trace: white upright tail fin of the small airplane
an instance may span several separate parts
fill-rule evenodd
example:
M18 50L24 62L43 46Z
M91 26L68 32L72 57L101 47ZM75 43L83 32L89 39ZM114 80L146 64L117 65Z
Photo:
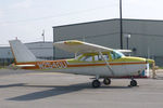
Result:
M16 63L36 62L35 55L20 40L9 41Z

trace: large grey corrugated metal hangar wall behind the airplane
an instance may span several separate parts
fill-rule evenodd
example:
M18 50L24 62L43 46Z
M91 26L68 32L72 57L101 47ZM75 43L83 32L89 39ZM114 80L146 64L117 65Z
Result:
M155 58L156 65L163 66L163 21L123 19L124 35L130 35L129 49L135 56ZM84 40L112 49L120 49L120 19L53 27L54 41ZM124 49L126 38L123 38ZM72 57L73 54L55 49L57 58Z

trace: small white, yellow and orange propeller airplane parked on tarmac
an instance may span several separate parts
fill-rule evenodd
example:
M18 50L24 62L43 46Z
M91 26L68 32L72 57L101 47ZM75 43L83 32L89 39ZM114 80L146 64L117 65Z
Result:
M110 48L87 43L78 40L67 40L53 43L55 48L75 53L75 58L45 60L38 59L20 40L9 41L15 64L13 67L39 71L53 71L93 76L92 87L99 87L103 79L105 85L111 84L111 78L129 77L130 86L136 86L135 76L146 69L153 59L125 56L122 52Z

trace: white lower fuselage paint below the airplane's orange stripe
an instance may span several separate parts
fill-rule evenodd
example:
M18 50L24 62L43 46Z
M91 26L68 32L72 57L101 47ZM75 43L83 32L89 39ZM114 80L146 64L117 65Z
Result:
M100 77L126 77L138 76L138 71L146 69L146 64L136 65L114 65L111 66L114 76L106 66L87 66L87 67L73 67L64 69L50 69L46 71L63 72L63 73L76 73L86 76L100 76Z

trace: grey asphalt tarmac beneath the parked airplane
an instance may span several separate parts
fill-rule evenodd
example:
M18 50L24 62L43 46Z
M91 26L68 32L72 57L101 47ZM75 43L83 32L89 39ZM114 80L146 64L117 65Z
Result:
M163 73L158 79L113 79L91 87L91 77L0 69L0 108L163 108Z

